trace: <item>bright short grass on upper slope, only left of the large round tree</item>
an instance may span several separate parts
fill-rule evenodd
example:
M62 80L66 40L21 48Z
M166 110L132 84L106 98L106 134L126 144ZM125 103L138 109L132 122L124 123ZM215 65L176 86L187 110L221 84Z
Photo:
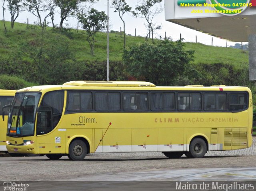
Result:
M10 22L6 22L6 26L10 26ZM48 32L52 28L47 29ZM6 35L4 34L4 25L0 21L0 54L2 56L8 56L15 51L15 49L24 44L25 42L30 42L31 44L35 39L40 39L41 33L37 26L29 25L27 28L26 24L15 23L14 29L7 28ZM74 56L77 61L106 61L106 49L107 49L107 34L104 32L96 33L95 42L95 55L90 54L90 46L86 41L86 36L81 35L76 30L65 30L62 34L58 33L58 30L47 35L50 41L54 41L56 38L65 41L69 44L69 48L74 51ZM126 35L127 46L143 42L144 37L132 37ZM123 37L120 37L120 33L110 33L109 35L109 59L112 61L122 60L123 51Z

